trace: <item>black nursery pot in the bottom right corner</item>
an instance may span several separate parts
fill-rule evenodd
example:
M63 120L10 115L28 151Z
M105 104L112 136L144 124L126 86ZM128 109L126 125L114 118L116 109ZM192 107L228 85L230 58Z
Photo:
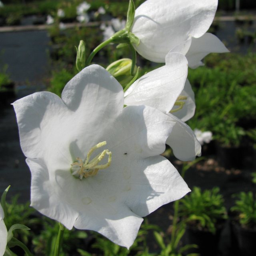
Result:
M244 229L237 222L230 222L231 248L234 256L256 255L256 230Z

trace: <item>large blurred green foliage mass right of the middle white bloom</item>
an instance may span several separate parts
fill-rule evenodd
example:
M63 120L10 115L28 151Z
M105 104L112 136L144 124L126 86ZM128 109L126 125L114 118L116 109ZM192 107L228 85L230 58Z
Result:
M222 146L240 146L256 119L256 54L210 54L205 63L188 72L196 101L188 125L210 130Z

